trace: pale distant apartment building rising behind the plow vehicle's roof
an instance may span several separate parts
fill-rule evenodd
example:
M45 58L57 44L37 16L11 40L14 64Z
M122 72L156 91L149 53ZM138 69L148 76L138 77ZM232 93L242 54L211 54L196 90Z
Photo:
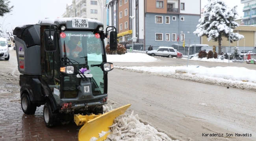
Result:
M102 22L100 4L101 0L72 0L72 3L67 4L66 11L62 14L62 17L81 17Z

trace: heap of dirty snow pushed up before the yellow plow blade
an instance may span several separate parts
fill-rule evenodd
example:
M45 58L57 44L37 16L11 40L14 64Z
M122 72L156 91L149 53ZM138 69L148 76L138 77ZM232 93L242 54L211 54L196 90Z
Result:
M139 116L133 114L132 111L129 116L122 114L117 117L105 141L173 141L166 134L141 123Z

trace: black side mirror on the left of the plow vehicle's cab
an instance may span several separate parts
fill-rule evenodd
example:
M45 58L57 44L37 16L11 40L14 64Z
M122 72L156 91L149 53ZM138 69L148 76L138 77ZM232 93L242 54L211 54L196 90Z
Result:
M45 30L45 51L56 51L57 40L55 30Z

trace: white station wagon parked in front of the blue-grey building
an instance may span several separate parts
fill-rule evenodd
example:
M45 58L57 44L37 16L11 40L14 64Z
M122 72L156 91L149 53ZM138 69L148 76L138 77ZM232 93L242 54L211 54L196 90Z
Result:
M158 47L156 50L146 51L150 56L177 57L178 52L173 47Z

